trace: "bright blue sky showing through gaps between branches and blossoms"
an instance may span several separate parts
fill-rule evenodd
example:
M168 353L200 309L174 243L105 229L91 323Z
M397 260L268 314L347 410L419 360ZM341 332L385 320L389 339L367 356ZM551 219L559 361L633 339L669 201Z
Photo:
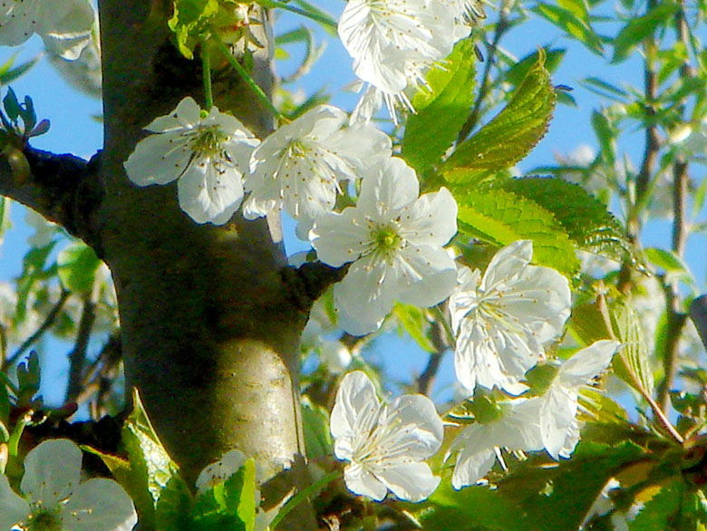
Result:
M335 7L339 10L344 6L343 2L334 3L322 0L317 4ZM496 14L491 10L488 11L489 19L493 20ZM338 15L338 13L332 14ZM284 33L301 24L315 27L314 23L305 19L284 14L276 24L276 34ZM297 82L294 88L311 94L321 87L327 87L328 91L333 93L332 102L350 111L357 100L357 95L343 92L342 89L355 79L351 70L351 61L338 40L329 38L321 30L317 30L316 35L319 43L326 40L324 55L320 62L315 64L312 72ZM637 55L620 65L608 65L605 60L586 52L579 44L567 40L558 30L542 21L536 20L532 24L525 24L513 30L503 45L509 53L513 53L518 58L534 52L538 46L566 47L565 61L555 73L554 82L574 87L575 90L572 94L577 102L576 108L558 106L547 137L542 140L528 159L519 165L521 170L551 164L556 153L567 153L575 150L581 144L588 144L596 148L593 133L589 128L589 116L592 110L601 106L601 102L594 94L586 91L580 85L580 79L586 76L600 75L607 81L615 82L618 85L625 82L630 82L635 86L642 84L642 64ZM298 51L296 48L292 48L291 51L294 57L301 53L301 50ZM0 61L9 58L13 53L18 53L18 49L0 49ZM19 49L16 61L27 60L38 53L41 53L41 41L34 37ZM292 63L280 63L277 68L279 72L287 73L291 71L293 66ZM12 86L20 97L23 97L24 94L31 95L39 118L48 118L52 122L49 133L32 142L34 147L57 153L72 152L82 157L90 157L92 153L100 149L102 124L96 120L96 117L101 114L100 101L75 92L44 59L40 60L34 69L23 78L13 82ZM633 134L626 135L621 140L622 148L634 159L635 165L640 160L641 140L640 131L634 131ZM696 179L704 179L704 168L697 169L693 175ZM24 226L23 218L23 209L14 207L12 214L14 228L5 235L5 243L0 248L0 280L11 279L20 272L22 257L27 249L25 238L29 234L27 227ZM702 212L702 220L704 219L705 215ZM653 224L646 237L647 245L669 246L669 223ZM305 246L303 243L295 241L295 238L291 236L288 237L286 243L290 253ZM704 238L694 237L690 241L687 253L688 262L693 267L702 289L705 284L706 246L707 242ZM64 358L70 345L52 342L47 346L50 355L46 358L44 394L50 401L60 401L63 389L53 382L60 381L65 375ZM376 341L375 347L375 356L385 362L396 379L402 381L409 381L413 373L421 372L427 361L426 354L420 352L412 342L394 336ZM393 367L395 369L392 369ZM453 381L453 371L450 356L447 356L442 366L438 391L449 386L451 381Z

